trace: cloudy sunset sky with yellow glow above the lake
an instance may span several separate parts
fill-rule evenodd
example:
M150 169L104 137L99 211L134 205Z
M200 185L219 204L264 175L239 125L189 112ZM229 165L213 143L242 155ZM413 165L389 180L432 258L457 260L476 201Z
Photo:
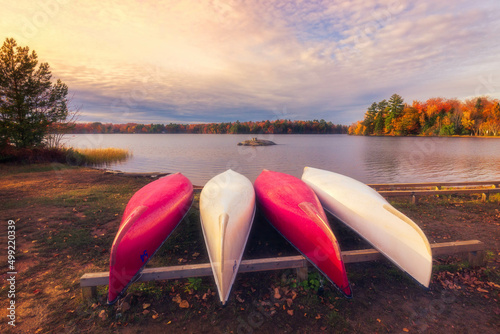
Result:
M498 0L0 0L79 121L325 119L394 93L500 98Z

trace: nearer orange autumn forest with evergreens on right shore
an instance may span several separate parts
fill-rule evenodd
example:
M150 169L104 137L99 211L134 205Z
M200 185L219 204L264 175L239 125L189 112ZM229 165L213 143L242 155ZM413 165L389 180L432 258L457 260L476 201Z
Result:
M373 102L352 135L499 136L500 103L490 97L460 101L441 97L404 103L398 94Z

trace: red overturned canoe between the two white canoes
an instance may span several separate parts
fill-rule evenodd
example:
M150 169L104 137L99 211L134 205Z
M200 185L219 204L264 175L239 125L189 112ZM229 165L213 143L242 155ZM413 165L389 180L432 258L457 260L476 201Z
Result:
M302 180L264 170L255 195L267 220L346 297L351 288L339 244L314 192Z

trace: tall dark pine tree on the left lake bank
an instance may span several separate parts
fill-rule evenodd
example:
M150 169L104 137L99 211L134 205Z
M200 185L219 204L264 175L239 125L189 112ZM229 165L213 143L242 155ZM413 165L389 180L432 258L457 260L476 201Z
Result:
M0 141L16 147L42 144L54 123L68 116L68 86L51 82L48 63L7 38L0 48Z

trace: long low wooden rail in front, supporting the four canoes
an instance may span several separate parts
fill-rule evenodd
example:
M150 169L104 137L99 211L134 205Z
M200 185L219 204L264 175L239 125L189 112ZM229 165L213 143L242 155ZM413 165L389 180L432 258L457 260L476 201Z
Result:
M484 262L484 243L478 240L445 242L431 244L433 257L441 255L468 254L471 265L480 266ZM344 263L358 263L384 259L384 256L375 249L362 249L342 252ZM302 255L274 257L264 259L253 259L241 261L239 273L297 269L299 279L307 278L307 267L309 262ZM181 279L188 277L211 276L210 263L192 264L185 266L171 266L159 268L146 268L138 282ZM109 284L109 272L87 273L80 278L80 286L84 299L93 298L97 295L96 287Z

